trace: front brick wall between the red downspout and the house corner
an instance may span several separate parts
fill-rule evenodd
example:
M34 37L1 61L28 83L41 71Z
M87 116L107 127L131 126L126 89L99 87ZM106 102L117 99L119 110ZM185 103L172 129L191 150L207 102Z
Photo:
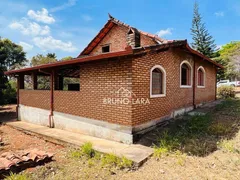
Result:
M131 105L104 104L124 87L131 90L131 59L80 65L80 91L55 91L54 110L116 124L131 124Z

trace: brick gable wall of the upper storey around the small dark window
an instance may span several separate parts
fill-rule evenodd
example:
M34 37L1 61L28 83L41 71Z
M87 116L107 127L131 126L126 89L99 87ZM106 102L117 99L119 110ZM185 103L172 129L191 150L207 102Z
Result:
M92 50L90 55L97 55L102 53L102 46L110 44L110 51L124 51L127 45L128 28L124 26L115 25L104 39ZM154 45L156 42L145 35L140 35L141 46Z

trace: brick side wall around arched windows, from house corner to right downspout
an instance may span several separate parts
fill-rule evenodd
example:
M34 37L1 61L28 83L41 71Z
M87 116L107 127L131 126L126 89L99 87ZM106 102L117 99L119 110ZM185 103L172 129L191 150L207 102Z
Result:
M138 98L149 98L149 105L133 105L133 125L139 125L169 115L172 110L191 106L192 88L180 88L180 64L192 56L185 53L164 51L152 52L133 60L133 92ZM166 97L150 98L150 70L161 65L166 71Z

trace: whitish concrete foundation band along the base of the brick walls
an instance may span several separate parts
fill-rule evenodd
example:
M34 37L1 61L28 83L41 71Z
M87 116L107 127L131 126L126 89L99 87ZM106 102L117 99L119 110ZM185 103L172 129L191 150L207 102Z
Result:
M54 127L57 129L78 132L125 144L132 144L134 134L137 134L138 132L147 132L159 123L187 113L192 109L193 107L181 108L173 111L169 116L155 119L135 127L112 124L105 121L74 116L56 111L53 112L52 118ZM49 110L19 105L18 112L19 120L42 126L49 126Z

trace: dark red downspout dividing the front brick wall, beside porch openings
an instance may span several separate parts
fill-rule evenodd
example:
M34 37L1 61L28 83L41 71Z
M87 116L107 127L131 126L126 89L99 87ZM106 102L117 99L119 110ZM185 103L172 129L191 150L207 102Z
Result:
M39 72L42 72L42 73L45 73L45 74L49 74L50 75L50 114L48 116L48 123L49 123L49 127L50 128L53 128L54 127L54 123L53 123L53 88L54 88L54 85L53 85L53 81L54 81L54 70L52 70L51 73L49 72L46 72L46 71L43 71L41 69L39 69Z

